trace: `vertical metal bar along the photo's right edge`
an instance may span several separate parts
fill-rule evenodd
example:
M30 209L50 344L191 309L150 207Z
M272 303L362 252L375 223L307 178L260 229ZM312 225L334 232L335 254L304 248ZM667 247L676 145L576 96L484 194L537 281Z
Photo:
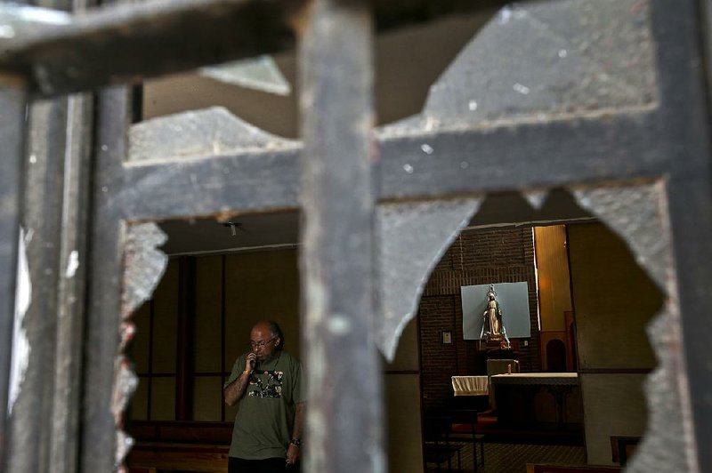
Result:
M671 5L654 0L653 28L658 44L659 117L668 133L672 161L667 170L668 206L675 249L682 312L686 379L683 398L690 411L679 413L694 431L685 432L691 469L712 471L712 364L709 355L709 315L712 313L712 152L710 108L702 52L704 17L700 5L688 0ZM688 405L684 405L688 407ZM696 444L696 445L695 445ZM697 448L694 448L694 447ZM696 458L695 457L696 453ZM695 465L696 463L696 465Z

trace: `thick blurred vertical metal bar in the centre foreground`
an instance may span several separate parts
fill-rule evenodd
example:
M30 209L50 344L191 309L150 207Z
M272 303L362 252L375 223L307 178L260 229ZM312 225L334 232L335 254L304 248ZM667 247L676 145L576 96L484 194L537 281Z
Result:
M384 471L374 333L372 31L365 2L318 0L301 44L306 470Z

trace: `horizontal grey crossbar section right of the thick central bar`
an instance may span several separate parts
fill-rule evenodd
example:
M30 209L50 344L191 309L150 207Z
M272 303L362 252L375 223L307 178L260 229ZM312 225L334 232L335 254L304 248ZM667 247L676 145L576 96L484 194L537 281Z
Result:
M659 176L671 156L657 113L382 138L376 193L423 198Z

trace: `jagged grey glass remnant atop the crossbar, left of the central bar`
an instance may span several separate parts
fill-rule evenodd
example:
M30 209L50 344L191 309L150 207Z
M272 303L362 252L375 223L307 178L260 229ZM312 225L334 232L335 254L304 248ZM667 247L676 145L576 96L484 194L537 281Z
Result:
M129 132L129 162L226 152L295 148L286 140L240 120L227 108L160 116L134 124Z

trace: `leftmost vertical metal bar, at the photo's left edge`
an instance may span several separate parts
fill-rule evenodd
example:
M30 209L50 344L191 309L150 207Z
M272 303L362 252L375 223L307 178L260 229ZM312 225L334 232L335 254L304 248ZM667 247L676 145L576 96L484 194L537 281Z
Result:
M0 84L0 471L8 457L8 395L25 141L26 94L21 84Z

